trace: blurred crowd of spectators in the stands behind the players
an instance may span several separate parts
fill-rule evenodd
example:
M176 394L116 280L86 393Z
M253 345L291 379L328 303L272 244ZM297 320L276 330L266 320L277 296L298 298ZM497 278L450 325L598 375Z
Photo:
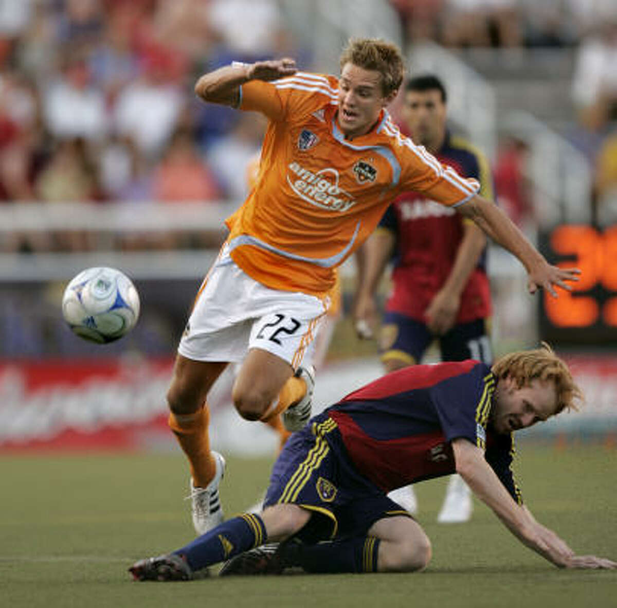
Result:
M596 197L617 189L615 0L391 2L408 44L576 49L573 120L601 135ZM310 65L282 14L277 0L2 0L0 201L238 204L263 120L200 104L193 85L233 59ZM517 146L496 167L506 182Z

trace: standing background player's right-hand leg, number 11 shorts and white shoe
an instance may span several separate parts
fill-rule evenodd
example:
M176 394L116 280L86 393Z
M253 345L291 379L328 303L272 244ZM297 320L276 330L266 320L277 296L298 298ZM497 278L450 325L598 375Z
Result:
M490 322L478 319L455 325L442 336L441 356L444 361L477 359L492 364ZM460 475L451 475L445 491L444 503L437 515L439 523L463 523L471 518L473 499L469 486Z

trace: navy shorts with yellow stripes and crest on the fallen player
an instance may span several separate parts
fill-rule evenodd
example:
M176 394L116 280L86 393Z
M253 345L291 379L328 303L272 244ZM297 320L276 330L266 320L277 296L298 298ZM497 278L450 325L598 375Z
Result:
M314 512L297 535L306 543L363 536L384 517L411 517L358 473L327 412L294 433L276 460L263 506L281 503Z

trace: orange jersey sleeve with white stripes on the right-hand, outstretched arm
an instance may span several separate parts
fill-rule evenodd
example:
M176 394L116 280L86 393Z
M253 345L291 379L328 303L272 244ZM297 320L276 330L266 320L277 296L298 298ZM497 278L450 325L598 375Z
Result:
M448 207L457 207L478 193L480 185L474 178L464 178L442 165L422 146L405 138L402 143L400 190L414 190Z

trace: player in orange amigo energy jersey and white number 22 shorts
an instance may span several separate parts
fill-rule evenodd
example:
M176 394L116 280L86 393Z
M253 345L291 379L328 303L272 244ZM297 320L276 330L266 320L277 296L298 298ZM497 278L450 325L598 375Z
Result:
M205 74L207 102L268 118L257 185L228 220L230 235L197 294L167 394L170 427L189 460L193 523L223 518L224 461L210 451L210 387L242 361L234 406L248 420L283 413L290 430L310 417L313 338L334 269L375 229L401 191L415 189L473 217L529 272L529 289L566 288L576 271L547 263L494 204L400 135L385 107L402 83L400 50L351 41L341 77L296 73L291 59L236 64ZM287 78L284 78L287 77ZM290 408L291 406L291 408ZM290 408L290 409L288 409Z

